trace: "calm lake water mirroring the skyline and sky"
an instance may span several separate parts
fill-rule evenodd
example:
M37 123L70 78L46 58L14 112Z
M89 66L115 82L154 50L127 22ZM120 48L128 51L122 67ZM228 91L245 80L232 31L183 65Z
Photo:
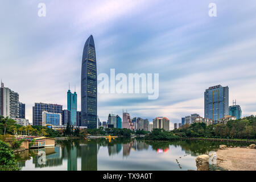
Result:
M176 140L144 142L136 139L64 140L55 147L27 150L18 155L22 170L196 170L196 156L216 151L220 144L245 143ZM181 168L179 167L178 160ZM217 169L217 167L212 167Z

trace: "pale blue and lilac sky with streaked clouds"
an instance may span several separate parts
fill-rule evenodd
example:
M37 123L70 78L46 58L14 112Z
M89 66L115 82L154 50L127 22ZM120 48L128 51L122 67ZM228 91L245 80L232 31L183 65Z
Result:
M39 3L46 16L39 17ZM209 3L217 16L210 17ZM19 93L32 122L35 102L61 104L77 92L81 109L81 59L93 35L97 74L159 73L159 98L99 94L98 116L204 117L204 91L229 86L242 116L256 115L256 2L254 0L24 0L0 1L0 78Z

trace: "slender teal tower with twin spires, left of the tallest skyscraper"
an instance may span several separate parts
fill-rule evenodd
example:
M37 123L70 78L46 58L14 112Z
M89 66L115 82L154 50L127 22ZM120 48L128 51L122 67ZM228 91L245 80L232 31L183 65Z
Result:
M67 92L68 96L68 110L70 111L70 125L76 125L76 111L77 111L77 94L72 93L69 89Z

